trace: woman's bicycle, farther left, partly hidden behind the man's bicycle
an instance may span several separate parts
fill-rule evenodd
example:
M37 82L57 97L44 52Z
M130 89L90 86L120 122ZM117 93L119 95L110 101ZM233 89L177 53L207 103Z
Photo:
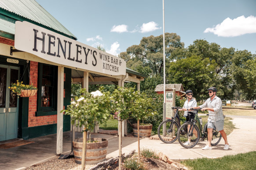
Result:
M177 132L180 127L179 109L181 107L172 107L172 110L176 109L176 113L172 119L161 122L158 126L157 134L161 141L165 143L173 143L177 140ZM176 120L177 119L177 120ZM163 128L165 130L163 130Z

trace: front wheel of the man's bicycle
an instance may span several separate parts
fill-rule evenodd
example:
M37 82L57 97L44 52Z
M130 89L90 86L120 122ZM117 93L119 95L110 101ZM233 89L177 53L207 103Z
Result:
M184 131L184 127L187 126L187 131ZM192 131L192 128L194 130ZM183 131L182 131L183 130ZM190 138L190 142L189 142ZM184 148L193 148L197 145L197 142L200 139L200 133L197 125L194 125L192 122L187 122L179 128L178 131L178 140L179 144L182 145Z

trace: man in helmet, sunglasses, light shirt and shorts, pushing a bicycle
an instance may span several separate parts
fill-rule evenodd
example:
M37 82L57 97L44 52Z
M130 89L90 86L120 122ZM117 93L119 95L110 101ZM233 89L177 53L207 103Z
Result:
M225 146L224 150L229 149L229 144L227 142L227 134L225 133L224 127L224 117L222 112L222 102L219 97L216 96L217 89L215 87L210 87L208 90L208 94L210 96L209 99L205 101L201 106L193 107L194 109L201 109L203 111L208 110L209 117L207 122L207 131L208 131L208 145L203 147L203 150L211 150L211 141L212 141L212 129L215 128L222 135Z

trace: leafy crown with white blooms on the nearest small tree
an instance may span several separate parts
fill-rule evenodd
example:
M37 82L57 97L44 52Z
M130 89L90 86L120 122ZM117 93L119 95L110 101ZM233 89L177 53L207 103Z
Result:
M110 92L86 92L86 89L80 91L83 95L75 97L75 101L67 106L65 115L70 115L71 123L75 120L79 121L79 127L84 125L85 131L92 130L94 123L99 124L106 122L110 117L110 110L112 110L113 103L110 101Z

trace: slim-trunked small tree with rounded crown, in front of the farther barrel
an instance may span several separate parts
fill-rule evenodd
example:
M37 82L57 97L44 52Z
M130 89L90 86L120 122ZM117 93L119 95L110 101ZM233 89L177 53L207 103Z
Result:
M154 109L151 105L152 98L146 94L135 93L134 100L132 101L133 106L130 108L132 112L131 116L137 120L138 128L138 161L140 162L140 147L139 147L139 120L144 120L146 117L154 115ZM142 124L143 125L143 124Z

